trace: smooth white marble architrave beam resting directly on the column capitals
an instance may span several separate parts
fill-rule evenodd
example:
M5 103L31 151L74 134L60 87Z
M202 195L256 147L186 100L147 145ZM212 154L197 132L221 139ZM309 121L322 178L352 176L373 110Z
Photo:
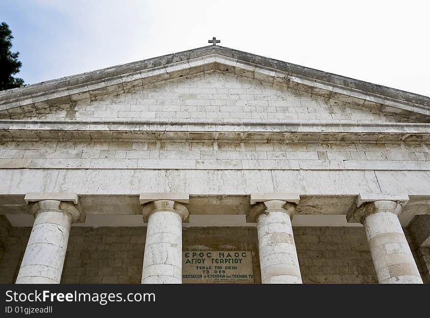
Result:
M187 192L218 195L297 192L301 195L357 195L360 192L402 192L430 195L429 176L423 171L0 169L0 180L5 181L0 183L0 193Z

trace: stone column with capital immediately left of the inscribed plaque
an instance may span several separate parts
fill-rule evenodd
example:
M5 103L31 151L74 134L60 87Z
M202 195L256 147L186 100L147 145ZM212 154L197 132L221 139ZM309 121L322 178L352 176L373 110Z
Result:
M151 197L166 200L148 202ZM182 283L182 222L188 209L178 201L188 203L188 195L141 195L143 218L148 222L142 284Z

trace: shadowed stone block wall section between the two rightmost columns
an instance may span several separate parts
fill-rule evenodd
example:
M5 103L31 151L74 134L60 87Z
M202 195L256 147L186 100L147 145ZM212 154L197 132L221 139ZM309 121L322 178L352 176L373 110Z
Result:
M362 227L293 227L306 283L377 283Z

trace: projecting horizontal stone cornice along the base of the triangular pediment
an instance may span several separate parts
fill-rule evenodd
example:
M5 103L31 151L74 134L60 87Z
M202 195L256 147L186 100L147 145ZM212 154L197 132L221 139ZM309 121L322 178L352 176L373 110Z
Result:
M220 140L301 142L428 142L427 123L214 123L169 121L0 120L0 139L38 140Z

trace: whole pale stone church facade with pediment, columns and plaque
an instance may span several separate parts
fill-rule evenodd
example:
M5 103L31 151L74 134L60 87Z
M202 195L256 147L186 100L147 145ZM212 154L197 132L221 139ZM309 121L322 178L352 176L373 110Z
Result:
M1 91L0 181L1 283L430 283L430 98L215 43Z

